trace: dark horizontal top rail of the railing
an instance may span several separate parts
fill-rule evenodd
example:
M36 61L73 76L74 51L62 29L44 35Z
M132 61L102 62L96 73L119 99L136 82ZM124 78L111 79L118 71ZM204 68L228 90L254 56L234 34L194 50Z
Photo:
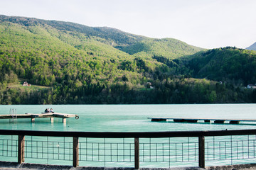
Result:
M61 132L36 130L0 130L0 135L28 135L53 137L97 137L97 138L157 138L157 137L200 137L226 135L256 135L252 130L212 130L212 131L170 131L170 132Z

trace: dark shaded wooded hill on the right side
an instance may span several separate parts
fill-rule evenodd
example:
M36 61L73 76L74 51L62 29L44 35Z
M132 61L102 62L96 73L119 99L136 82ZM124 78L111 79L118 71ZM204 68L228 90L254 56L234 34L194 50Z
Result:
M187 58L186 67L196 78L229 81L246 86L256 83L256 52L224 47Z

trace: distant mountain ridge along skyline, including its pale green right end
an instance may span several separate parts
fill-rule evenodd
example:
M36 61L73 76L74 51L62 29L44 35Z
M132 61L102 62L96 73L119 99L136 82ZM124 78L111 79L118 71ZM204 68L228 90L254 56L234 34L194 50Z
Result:
M101 38L97 40L107 45L137 56L161 55L167 58L182 57L184 55L193 55L203 48L186 44L174 38L146 38L142 35L134 35L125 33L116 28L107 27L89 27L78 23L64 21L46 21L37 18L26 18L19 16L3 16L0 15L1 22L18 23L21 26L51 26L60 31L69 31L81 33L87 38Z

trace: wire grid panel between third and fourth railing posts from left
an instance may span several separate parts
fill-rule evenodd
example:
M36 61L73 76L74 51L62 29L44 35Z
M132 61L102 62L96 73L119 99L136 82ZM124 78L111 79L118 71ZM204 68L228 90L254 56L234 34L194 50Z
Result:
M198 162L198 137L149 138L139 147L140 162Z

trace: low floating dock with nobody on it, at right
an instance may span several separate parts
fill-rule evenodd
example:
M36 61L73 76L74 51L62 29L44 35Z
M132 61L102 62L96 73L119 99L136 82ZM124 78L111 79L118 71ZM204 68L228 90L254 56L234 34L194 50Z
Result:
M148 118L152 122L161 122L167 120L173 120L175 123L198 123L199 120L203 120L203 123L225 123L239 124L242 122L256 122L256 119L215 119L215 118Z

